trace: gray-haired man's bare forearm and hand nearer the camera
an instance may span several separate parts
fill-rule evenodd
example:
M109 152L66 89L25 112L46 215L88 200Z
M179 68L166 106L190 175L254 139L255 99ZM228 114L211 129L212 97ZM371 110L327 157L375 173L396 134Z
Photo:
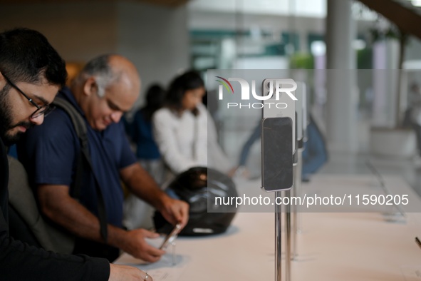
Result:
M43 213L53 222L78 237L104 242L100 235L99 220L83 205L71 198L66 185L38 185L38 199ZM108 225L108 245L118 247L130 255L147 262L156 262L165 251L147 244L145 238L157 237L157 233L137 229L125 231Z

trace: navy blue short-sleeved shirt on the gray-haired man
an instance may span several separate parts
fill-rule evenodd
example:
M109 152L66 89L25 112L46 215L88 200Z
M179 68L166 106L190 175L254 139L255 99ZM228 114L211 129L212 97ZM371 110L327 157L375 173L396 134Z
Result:
M64 88L58 96L66 98L83 115L70 89ZM121 227L123 222L123 189L120 185L121 168L136 162L123 122L112 123L104 131L95 131L86 121L93 173L103 193L108 223ZM41 126L31 128L19 143L19 160L24 163L31 183L71 186L76 173L80 143L68 114L56 108ZM83 175L80 203L97 215L97 194L92 171Z

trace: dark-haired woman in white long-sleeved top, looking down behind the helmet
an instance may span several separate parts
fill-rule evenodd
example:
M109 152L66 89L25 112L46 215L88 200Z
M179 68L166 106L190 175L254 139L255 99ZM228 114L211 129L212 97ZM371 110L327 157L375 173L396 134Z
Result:
M212 118L202 103L204 93L199 74L184 73L172 81L165 106L152 117L155 141L173 174L197 166L232 173L232 165L217 143Z

